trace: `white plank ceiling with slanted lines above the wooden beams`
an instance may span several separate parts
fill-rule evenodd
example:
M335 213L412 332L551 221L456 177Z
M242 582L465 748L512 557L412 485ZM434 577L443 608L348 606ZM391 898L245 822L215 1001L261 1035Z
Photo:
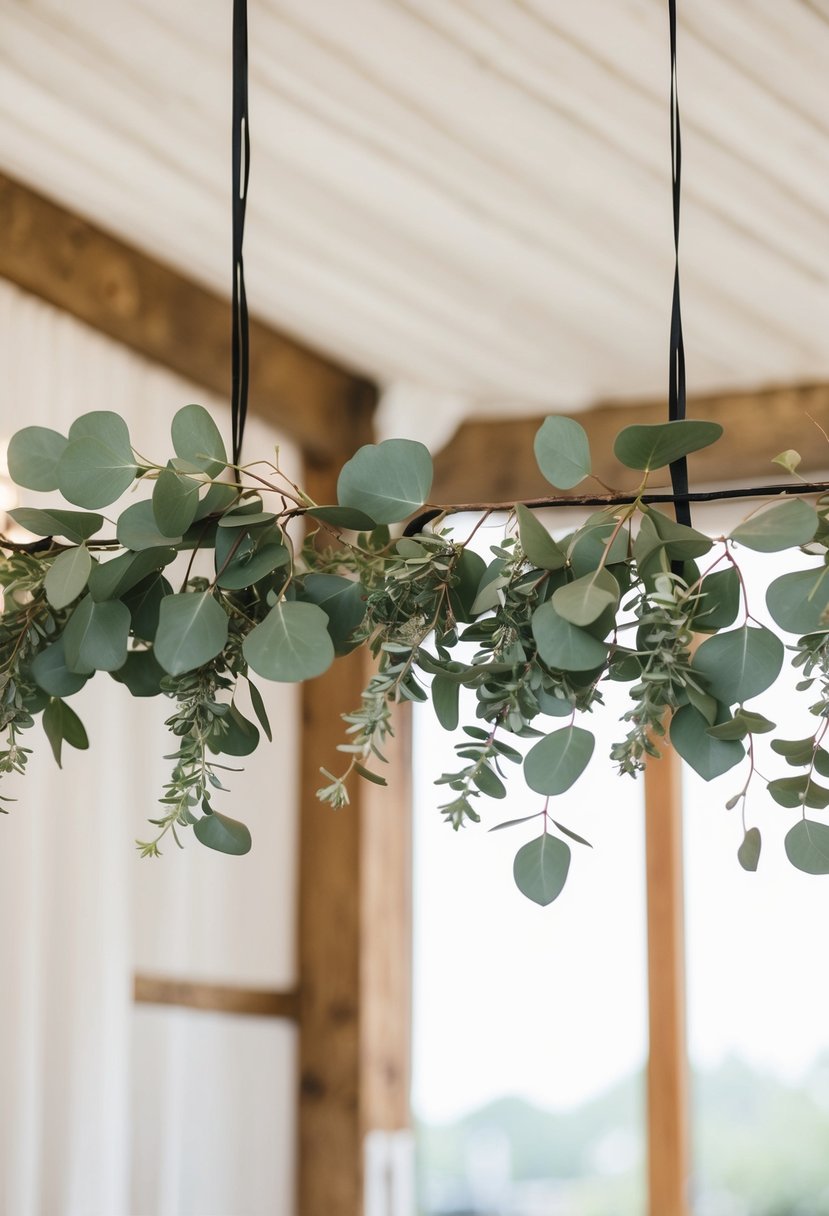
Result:
M679 0L692 392L829 377L829 0ZM252 0L252 308L455 413L660 395L664 0ZM0 164L225 291L230 0L2 0ZM418 395L419 394L419 395Z

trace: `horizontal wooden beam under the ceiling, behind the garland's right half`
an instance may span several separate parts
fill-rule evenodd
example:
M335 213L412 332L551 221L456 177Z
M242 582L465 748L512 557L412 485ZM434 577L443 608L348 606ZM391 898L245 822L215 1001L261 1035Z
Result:
M665 422L665 404L616 402L573 416L590 437L596 477L614 490L635 489L639 474L614 458L613 441L631 423ZM802 472L829 467L829 443L816 426L817 422L829 430L829 384L699 396L688 402L688 417L720 422L724 428L718 443L688 457L692 485L754 482L765 477L779 480L782 469L771 460L786 447L795 447L802 455ZM462 423L435 460L433 501L515 502L552 494L532 455L532 440L541 422L541 417L532 417ZM654 479L654 485L666 483L666 475ZM596 483L585 482L573 492L585 492L588 485Z

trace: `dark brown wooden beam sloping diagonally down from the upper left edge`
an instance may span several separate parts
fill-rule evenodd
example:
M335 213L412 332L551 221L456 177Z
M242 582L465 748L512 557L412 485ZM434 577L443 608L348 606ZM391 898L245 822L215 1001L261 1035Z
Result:
M230 396L226 299L2 174L0 231L0 277ZM325 457L350 455L373 393L365 379L252 320L249 400L304 451Z

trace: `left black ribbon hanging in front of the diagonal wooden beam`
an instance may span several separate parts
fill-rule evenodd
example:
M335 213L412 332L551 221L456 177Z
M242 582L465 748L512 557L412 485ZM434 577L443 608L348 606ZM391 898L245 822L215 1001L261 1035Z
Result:
M233 463L242 454L244 420L248 413L250 340L248 299L244 291L244 213L250 173L250 125L248 122L248 5L233 0L233 136L232 136L233 292L231 339L231 428Z

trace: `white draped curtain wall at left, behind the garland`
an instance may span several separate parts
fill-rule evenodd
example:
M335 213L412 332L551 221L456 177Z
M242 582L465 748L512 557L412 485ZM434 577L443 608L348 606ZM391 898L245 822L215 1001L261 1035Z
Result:
M123 413L167 457L169 420L207 394L0 282L0 438ZM276 437L258 420L250 454ZM282 444L286 465L297 454ZM44 496L29 495L30 505ZM297 700L269 689L278 742L229 775L247 857L188 839L140 861L134 839L169 765L169 702L107 676L74 698L86 753L53 765L40 731L0 816L0 1212L271 1216L293 1211L295 1042L283 1023L134 1008L135 969L292 985Z

